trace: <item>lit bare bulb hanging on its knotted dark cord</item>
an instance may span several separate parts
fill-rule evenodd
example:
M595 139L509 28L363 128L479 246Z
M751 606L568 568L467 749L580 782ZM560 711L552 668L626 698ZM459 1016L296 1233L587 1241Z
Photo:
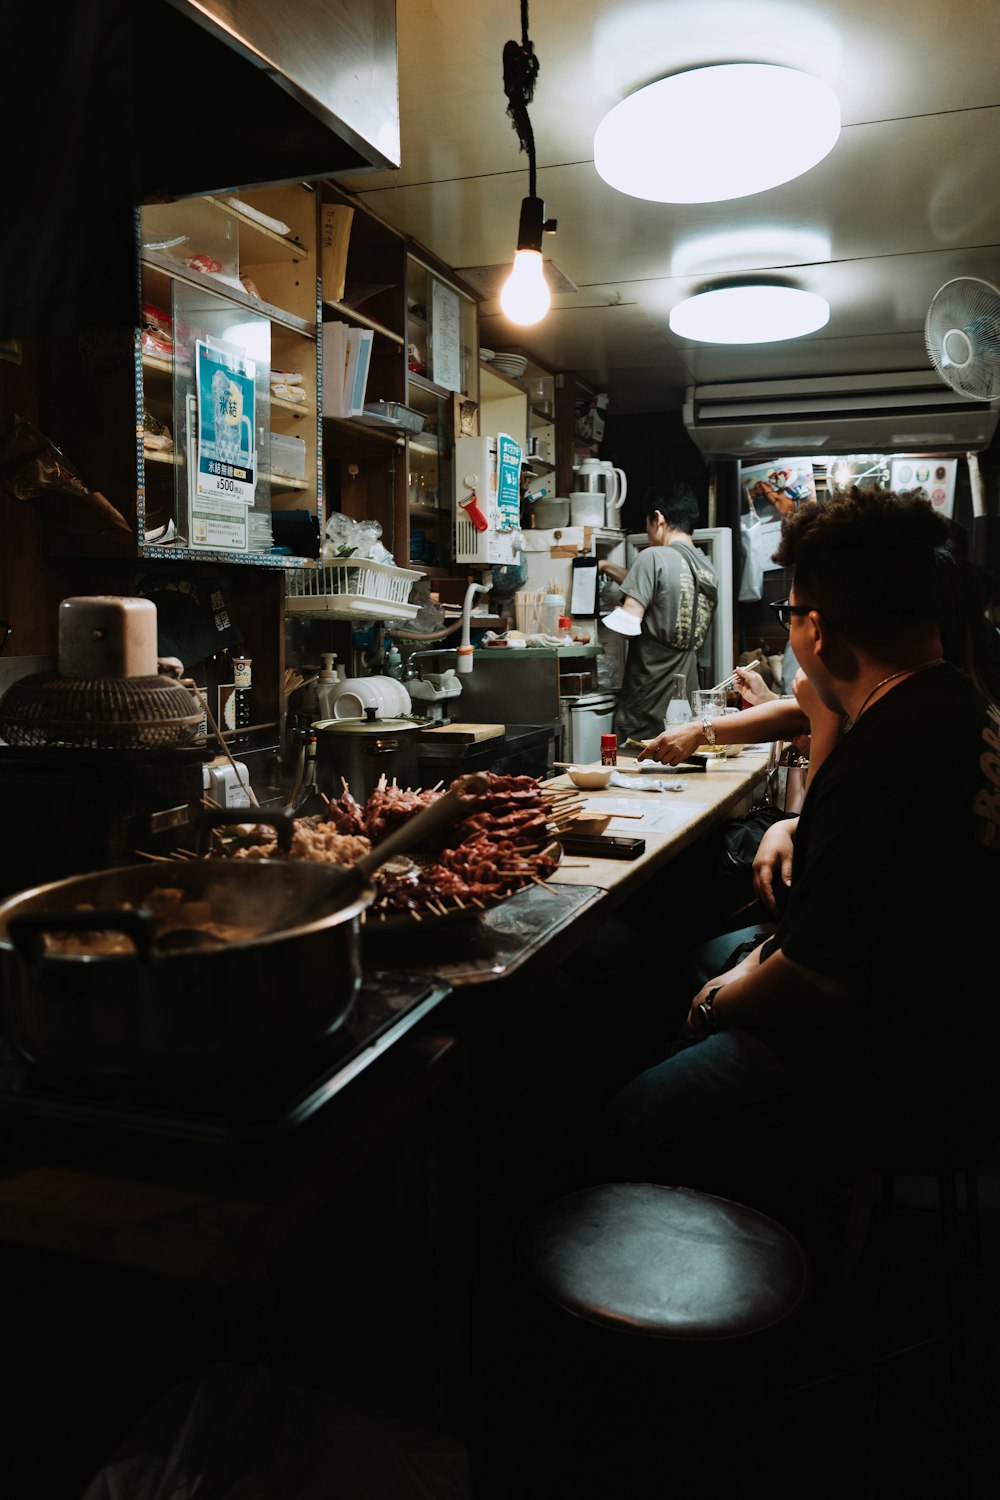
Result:
M528 153L528 196L520 204L514 268L501 288L501 308L511 322L522 326L538 322L552 304L541 237L556 232L556 220L546 219L546 206L535 194L535 134L528 118L528 105L535 93L537 76L538 58L528 38L528 0L520 0L520 44L507 42L504 46L504 93L520 148Z

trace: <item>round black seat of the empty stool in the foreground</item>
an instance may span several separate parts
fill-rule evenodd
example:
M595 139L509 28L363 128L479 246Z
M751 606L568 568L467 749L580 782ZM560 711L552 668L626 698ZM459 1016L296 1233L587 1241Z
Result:
M577 1317L687 1342L766 1334L810 1290L799 1242L774 1220L652 1182L606 1182L549 1203L522 1232L520 1263Z

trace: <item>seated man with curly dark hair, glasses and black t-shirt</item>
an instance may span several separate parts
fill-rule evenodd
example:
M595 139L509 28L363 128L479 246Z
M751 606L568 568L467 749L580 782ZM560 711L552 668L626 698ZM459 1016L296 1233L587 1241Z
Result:
M631 1174L679 1180L709 1136L720 1166L727 1140L751 1138L709 1130L733 1110L804 1120L784 1140L813 1161L849 1160L852 1126L855 1148L889 1122L993 1128L981 914L1000 894L1000 714L942 656L945 534L927 501L874 490L784 522L783 622L850 728L811 780L774 938L699 990L684 1044L612 1101L615 1162Z

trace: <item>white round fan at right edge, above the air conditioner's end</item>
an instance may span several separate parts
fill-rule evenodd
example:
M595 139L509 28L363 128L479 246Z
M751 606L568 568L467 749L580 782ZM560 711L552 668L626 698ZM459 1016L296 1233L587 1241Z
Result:
M970 400L1000 398L1000 288L958 276L936 292L924 321L928 358Z

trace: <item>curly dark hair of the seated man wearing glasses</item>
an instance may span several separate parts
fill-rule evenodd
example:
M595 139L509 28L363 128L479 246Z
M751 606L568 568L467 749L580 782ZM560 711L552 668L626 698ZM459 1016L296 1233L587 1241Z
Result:
M937 616L936 549L948 522L928 500L858 489L807 501L781 525L774 558L795 568L795 597L862 646Z

